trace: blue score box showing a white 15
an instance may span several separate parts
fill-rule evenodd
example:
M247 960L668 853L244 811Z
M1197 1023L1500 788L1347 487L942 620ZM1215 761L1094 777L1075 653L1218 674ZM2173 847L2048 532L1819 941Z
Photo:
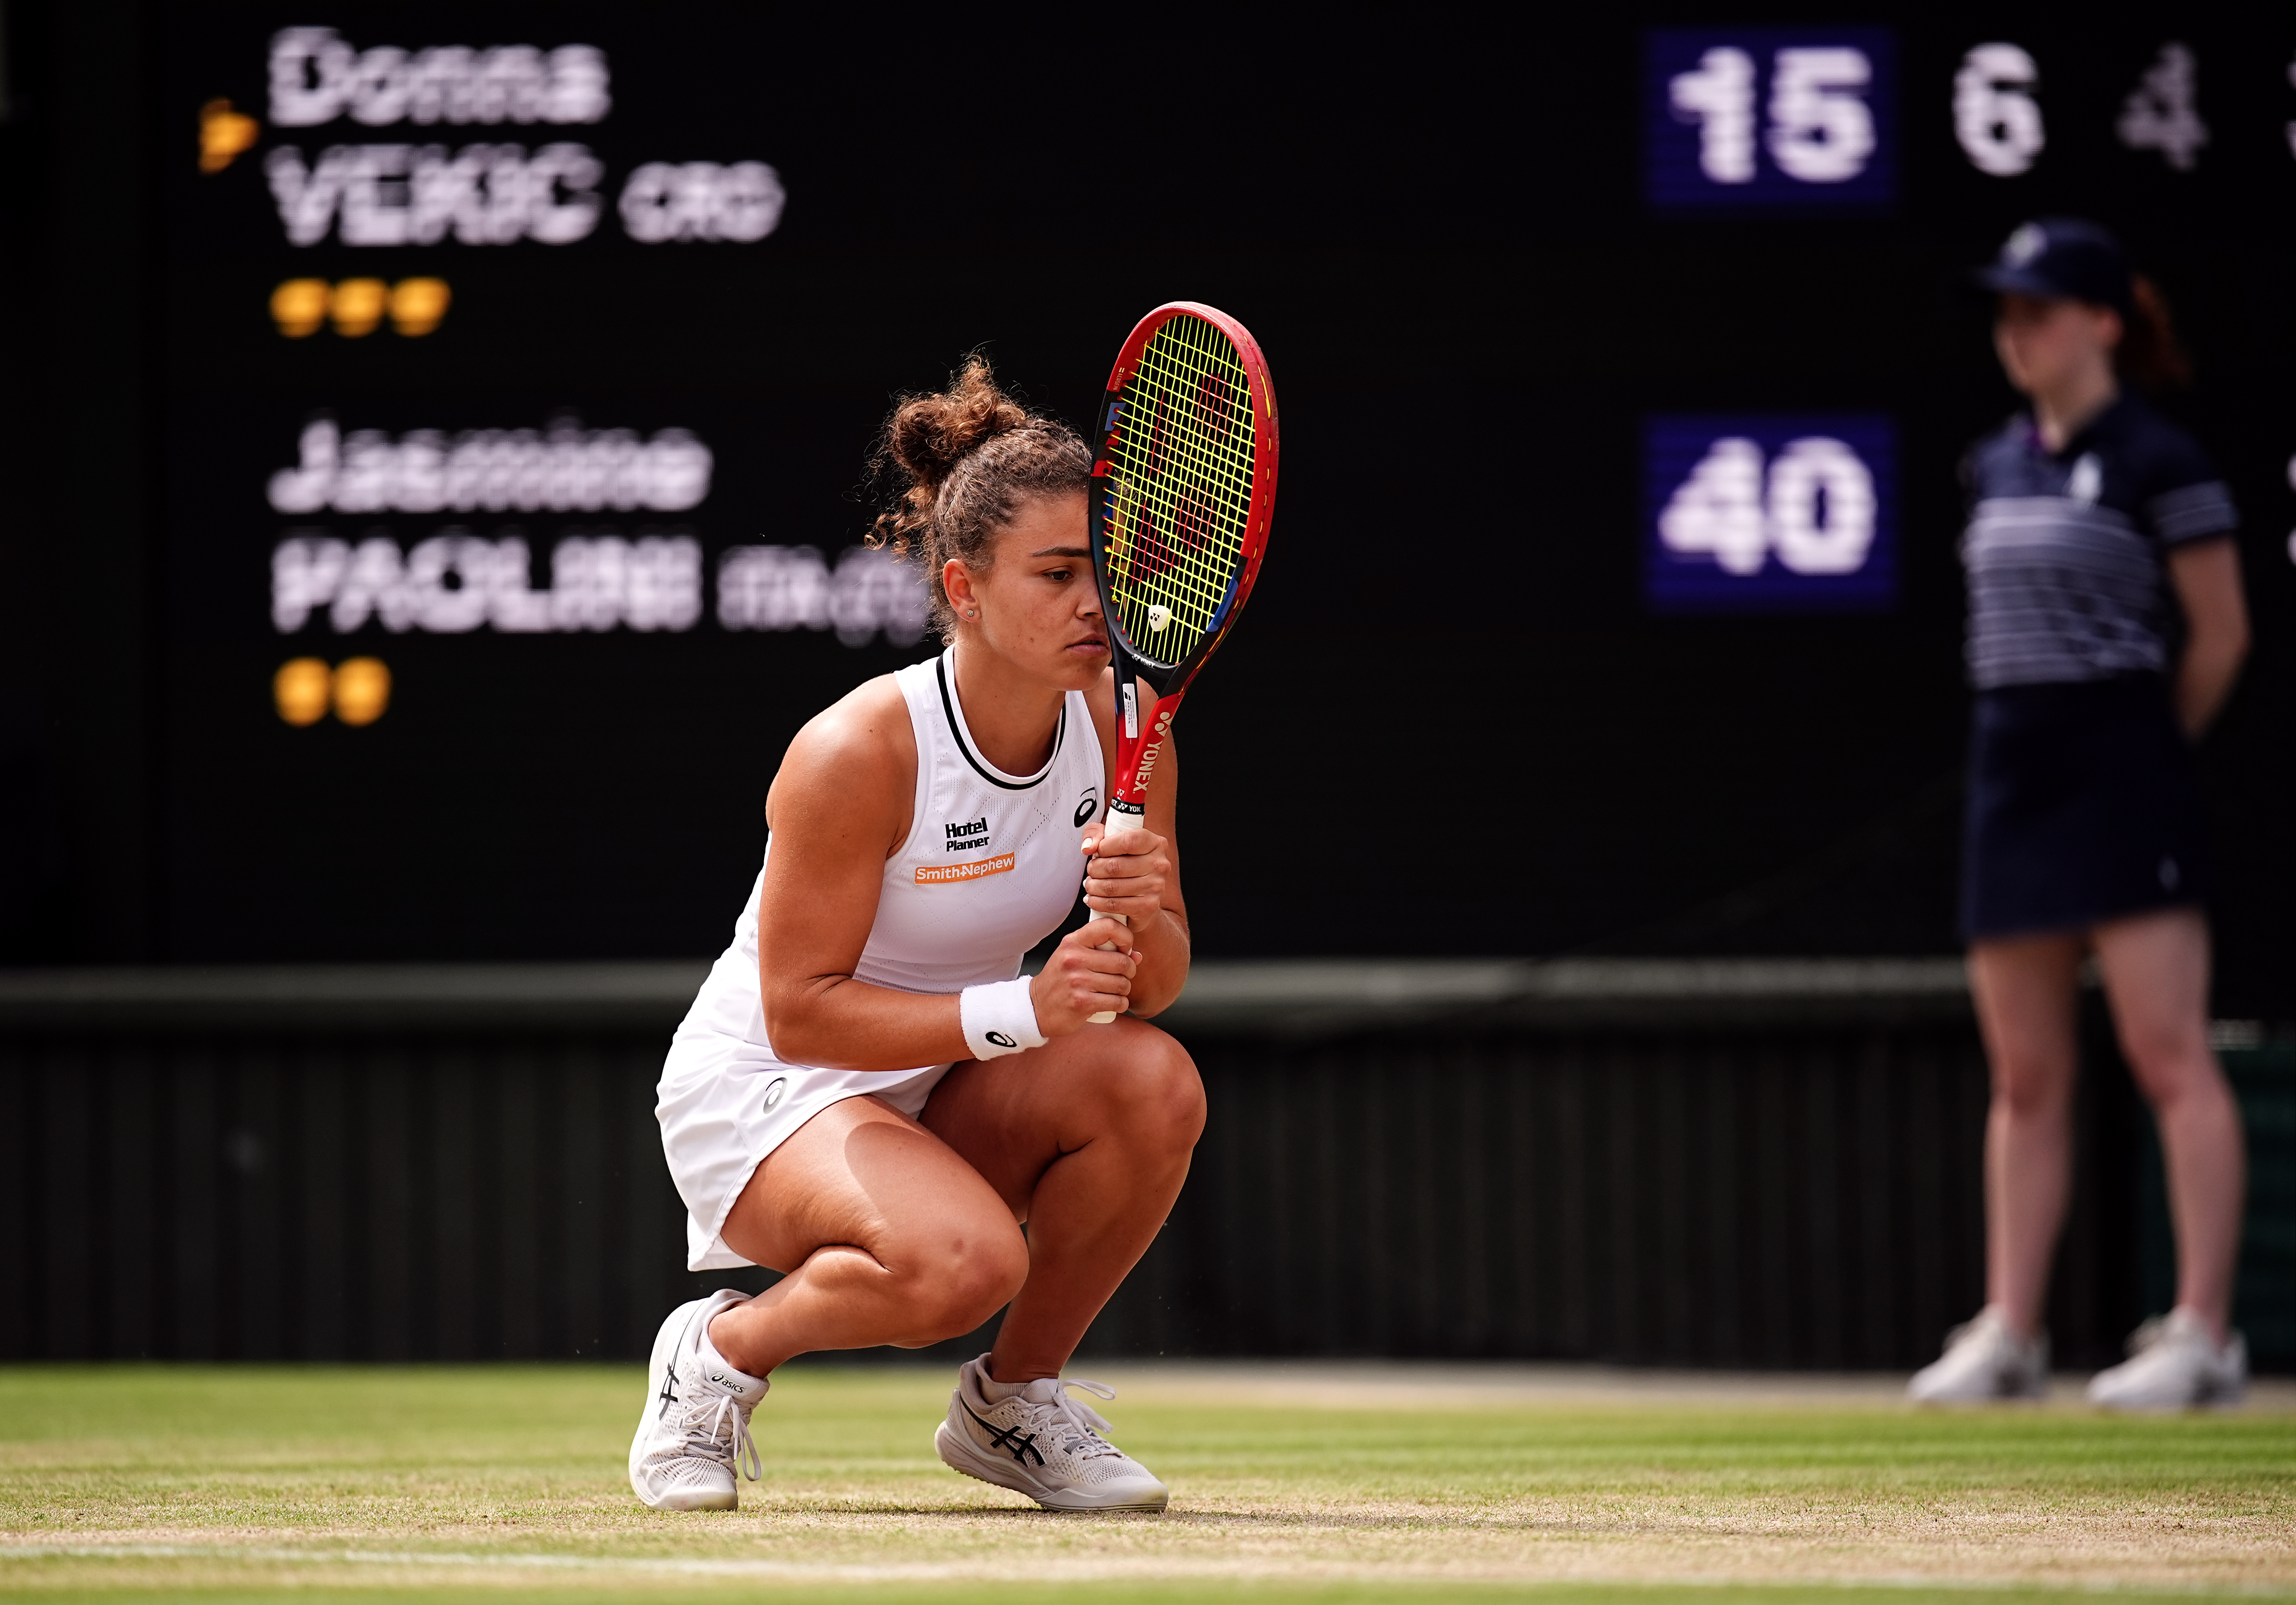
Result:
M1885 211L1896 202L1887 28L1651 28L1642 37L1653 211Z

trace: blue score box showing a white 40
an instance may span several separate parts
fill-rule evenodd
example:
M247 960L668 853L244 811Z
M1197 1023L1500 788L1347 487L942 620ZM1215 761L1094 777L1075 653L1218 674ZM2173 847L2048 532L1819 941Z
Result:
M1653 613L1896 606L1896 425L1878 413L1646 418Z

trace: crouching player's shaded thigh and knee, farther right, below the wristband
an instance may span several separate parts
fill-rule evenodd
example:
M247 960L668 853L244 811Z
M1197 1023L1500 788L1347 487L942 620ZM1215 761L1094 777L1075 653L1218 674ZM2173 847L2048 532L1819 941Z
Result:
M1086 1143L1120 1143L1143 1164L1185 1160L1203 1134L1203 1079L1173 1038L1118 1015L1026 1054L960 1063L923 1118L1029 1219L1038 1178Z

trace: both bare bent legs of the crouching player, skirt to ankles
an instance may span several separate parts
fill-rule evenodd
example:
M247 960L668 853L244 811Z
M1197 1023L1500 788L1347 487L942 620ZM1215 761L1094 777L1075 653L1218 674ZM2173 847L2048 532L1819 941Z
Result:
M1137 1019L960 1063L923 1125L847 1098L735 1201L726 1245L788 1274L709 1339L767 1375L813 1350L962 1336L1013 1302L992 1375L1056 1375L1155 1240L1201 1130L1194 1063Z

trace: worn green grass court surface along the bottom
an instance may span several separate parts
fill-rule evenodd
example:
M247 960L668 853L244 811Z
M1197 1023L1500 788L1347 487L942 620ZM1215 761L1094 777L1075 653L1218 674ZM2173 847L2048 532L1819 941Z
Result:
M622 1481L631 1366L0 1368L18 1598L1697 1598L2296 1591L2296 1412L1924 1414L1883 1387L1084 1366L1164 1518L946 1472L946 1368L790 1366L730 1515ZM1554 1378L1561 1378L1557 1382ZM1768 1391L1763 1391L1768 1389ZM2060 1385L2071 1401L2073 1389Z

